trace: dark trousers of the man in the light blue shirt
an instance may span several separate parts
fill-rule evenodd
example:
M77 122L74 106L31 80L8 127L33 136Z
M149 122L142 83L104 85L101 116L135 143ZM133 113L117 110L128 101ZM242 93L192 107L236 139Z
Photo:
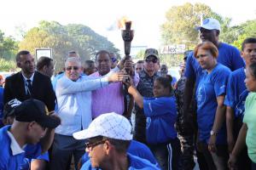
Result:
M74 165L78 168L80 158L85 152L85 140L76 140L73 136L66 136L55 133L55 139L52 145L49 169L69 170L72 156Z

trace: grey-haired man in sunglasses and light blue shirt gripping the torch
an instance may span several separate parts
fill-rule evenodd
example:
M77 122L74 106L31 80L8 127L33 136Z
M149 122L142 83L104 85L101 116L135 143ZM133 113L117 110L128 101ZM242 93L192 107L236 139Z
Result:
M84 155L84 141L73 139L72 134L87 128L91 118L91 90L108 86L108 82L122 81L123 74L110 73L105 77L91 79L81 76L81 61L68 58L65 75L56 83L57 114L61 125L55 129L50 169L69 169L72 155L75 167ZM128 77L128 76L126 76Z

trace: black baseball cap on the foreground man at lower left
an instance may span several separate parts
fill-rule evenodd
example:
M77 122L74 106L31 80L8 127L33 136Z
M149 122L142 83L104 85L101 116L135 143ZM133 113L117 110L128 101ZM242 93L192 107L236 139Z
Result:
M38 99L26 99L15 108L18 122L38 122L42 127L55 128L61 124L59 119L49 116L46 105Z

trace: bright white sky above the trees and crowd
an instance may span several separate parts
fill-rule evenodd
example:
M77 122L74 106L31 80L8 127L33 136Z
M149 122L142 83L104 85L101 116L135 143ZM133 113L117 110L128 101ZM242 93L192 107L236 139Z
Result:
M119 49L123 40L119 30L108 31L122 16L132 21L135 31L132 46L160 47L160 25L172 6L183 3L205 3L235 26L256 19L255 0L3 0L0 30L6 36L19 38L18 27L29 30L40 20L55 20L61 25L83 24L108 37Z

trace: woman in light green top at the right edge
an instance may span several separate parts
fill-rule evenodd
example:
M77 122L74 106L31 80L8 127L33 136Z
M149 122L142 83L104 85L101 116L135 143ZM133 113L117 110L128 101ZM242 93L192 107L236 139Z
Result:
M254 54L256 54L254 46ZM236 140L234 150L230 155L229 167L235 169L236 159L241 150L247 144L248 156L252 161L252 170L256 170L256 63L250 65L246 70L246 83L248 94L245 102L245 114L243 124Z

